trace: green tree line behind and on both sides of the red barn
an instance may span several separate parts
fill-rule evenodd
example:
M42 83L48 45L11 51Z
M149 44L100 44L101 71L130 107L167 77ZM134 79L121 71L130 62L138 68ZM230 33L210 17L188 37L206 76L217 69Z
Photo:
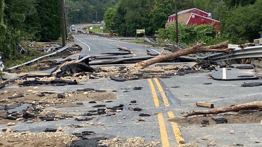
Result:
M154 35L165 28L168 16L175 13L174 7L174 0L119 0L105 12L104 21L108 30L116 30L119 35L129 32L135 36L136 29L144 28L146 35ZM177 8L212 13L213 19L221 22L222 37L232 43L252 42L262 33L262 0L177 0Z

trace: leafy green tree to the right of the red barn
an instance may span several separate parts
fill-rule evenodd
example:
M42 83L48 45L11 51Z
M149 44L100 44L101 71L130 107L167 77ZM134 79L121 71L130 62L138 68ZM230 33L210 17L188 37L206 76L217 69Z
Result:
M261 9L262 0L257 0L254 5L237 6L227 11L221 19L222 33L234 38L235 42L252 42L259 38L262 33Z

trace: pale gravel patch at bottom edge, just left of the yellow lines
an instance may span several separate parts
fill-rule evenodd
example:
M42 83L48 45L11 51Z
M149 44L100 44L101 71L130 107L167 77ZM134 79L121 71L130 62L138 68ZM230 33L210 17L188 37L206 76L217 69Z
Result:
M116 137L112 140L101 140L99 141L100 145L105 145L105 146L119 146L119 147L151 147L151 146L160 146L161 142L145 142L145 139L142 139L141 137L135 137L135 138L129 138L126 141L121 141L118 142L120 140L119 137Z

